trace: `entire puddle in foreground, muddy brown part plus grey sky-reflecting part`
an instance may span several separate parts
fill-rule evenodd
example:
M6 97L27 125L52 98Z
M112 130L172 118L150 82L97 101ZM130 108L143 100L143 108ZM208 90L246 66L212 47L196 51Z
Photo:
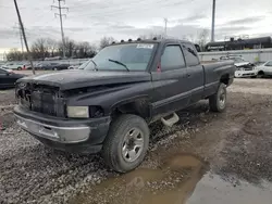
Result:
M207 173L193 155L177 155L161 169L137 169L108 179L74 197L72 204L271 204L272 183L232 182Z

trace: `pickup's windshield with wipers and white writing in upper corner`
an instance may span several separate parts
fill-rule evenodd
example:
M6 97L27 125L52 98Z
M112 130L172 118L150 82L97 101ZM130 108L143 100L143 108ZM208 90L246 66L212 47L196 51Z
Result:
M153 43L116 44L102 49L79 69L146 71L154 50Z

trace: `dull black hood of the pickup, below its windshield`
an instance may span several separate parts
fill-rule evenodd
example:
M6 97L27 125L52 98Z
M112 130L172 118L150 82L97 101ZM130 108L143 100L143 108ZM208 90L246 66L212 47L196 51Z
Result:
M146 72L92 72L65 71L20 79L17 82L32 82L59 87L60 90L70 90L100 85L150 81L151 76Z

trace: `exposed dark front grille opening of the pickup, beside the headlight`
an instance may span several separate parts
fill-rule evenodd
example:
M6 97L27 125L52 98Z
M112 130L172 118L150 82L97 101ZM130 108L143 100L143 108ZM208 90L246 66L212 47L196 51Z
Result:
M54 87L27 86L17 90L16 95L23 109L50 116L64 117L63 99L58 97L58 89Z

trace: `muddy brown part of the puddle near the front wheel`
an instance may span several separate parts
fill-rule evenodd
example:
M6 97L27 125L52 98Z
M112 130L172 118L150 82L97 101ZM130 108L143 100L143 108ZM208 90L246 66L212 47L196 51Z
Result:
M205 174L207 164L193 155L177 155L161 169L137 169L94 187L75 197L76 204L183 204Z

